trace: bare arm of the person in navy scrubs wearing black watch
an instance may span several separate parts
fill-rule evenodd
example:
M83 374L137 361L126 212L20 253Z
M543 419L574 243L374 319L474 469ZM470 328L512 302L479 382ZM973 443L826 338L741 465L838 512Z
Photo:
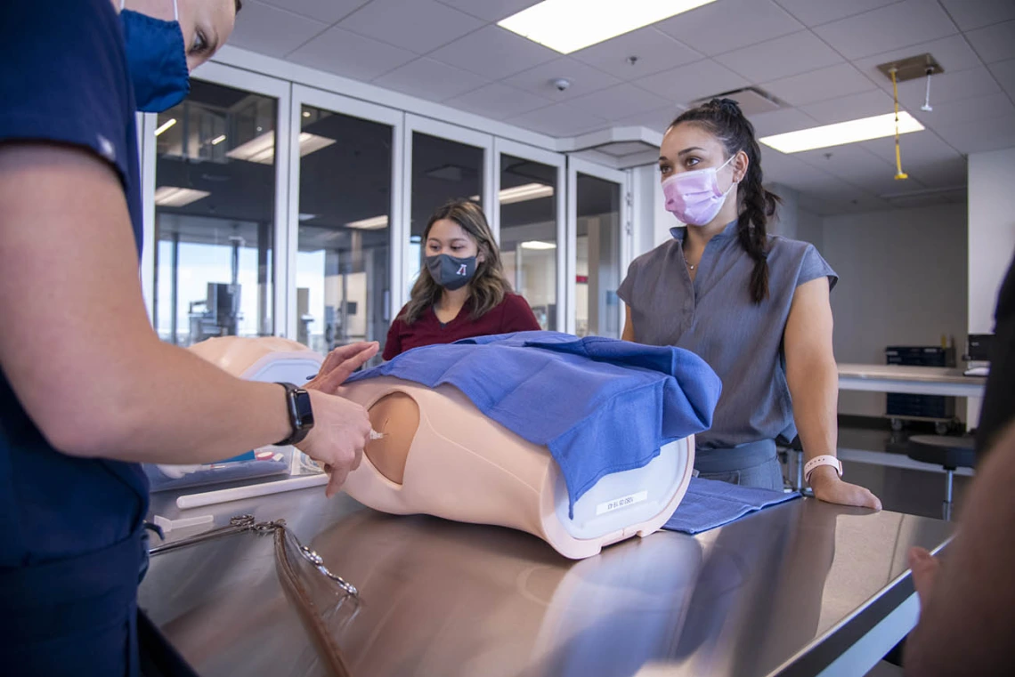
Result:
M76 456L188 463L286 437L279 386L233 378L158 340L136 261L109 165L69 147L0 145L0 366L51 444ZM352 464L351 450L344 460L324 451L343 442L335 424L344 420L329 409L345 402L350 424L365 412L313 397L326 430L308 446Z

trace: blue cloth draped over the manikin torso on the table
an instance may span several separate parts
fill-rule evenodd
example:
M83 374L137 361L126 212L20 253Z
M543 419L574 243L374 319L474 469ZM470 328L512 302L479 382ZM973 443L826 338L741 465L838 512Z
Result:
M722 389L689 351L555 331L424 346L349 381L378 376L454 385L493 421L548 447L571 507L602 476L644 467L663 445L712 427Z

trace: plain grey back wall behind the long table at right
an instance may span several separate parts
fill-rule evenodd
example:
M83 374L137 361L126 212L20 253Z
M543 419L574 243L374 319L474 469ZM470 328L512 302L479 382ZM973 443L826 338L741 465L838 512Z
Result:
M966 334L966 208L826 217L820 251L839 276L831 295L838 362L884 364L886 346L938 346ZM962 407L957 407L959 415ZM839 413L882 416L882 393L839 394Z

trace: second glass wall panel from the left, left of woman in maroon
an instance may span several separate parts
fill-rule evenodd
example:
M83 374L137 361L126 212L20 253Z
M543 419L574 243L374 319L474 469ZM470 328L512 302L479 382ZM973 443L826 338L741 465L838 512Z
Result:
M299 153L297 340L321 353L356 341L381 342L383 350L392 128L303 105Z

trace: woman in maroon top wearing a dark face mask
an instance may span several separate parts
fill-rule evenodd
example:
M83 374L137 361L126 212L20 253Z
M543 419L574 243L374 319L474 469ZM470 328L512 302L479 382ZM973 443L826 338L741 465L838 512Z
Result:
M449 202L430 217L423 241L426 265L388 331L385 360L419 346L540 328L529 303L511 291L479 205Z

